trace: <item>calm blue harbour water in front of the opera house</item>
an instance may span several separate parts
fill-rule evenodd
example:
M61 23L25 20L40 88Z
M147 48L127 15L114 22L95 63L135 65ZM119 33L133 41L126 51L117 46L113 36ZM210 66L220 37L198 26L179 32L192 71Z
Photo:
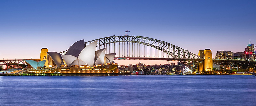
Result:
M0 105L255 106L249 75L0 76Z

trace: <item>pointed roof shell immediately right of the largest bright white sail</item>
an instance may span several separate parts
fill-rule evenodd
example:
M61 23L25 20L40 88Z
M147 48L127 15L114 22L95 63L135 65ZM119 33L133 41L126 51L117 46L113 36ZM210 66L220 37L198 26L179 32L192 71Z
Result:
M106 51L106 48L95 51L94 66L98 64L101 64L101 66L104 66L105 51Z

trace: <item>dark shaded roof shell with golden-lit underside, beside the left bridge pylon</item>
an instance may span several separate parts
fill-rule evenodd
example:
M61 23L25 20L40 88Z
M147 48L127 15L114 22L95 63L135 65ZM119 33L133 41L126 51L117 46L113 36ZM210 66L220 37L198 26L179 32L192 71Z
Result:
M51 60L54 61L54 63L56 64L57 67L60 67L61 65L65 65L62 60L61 54L59 54L57 52L47 52L47 55L49 55L47 57L51 57L51 58L47 58L49 65L52 64Z

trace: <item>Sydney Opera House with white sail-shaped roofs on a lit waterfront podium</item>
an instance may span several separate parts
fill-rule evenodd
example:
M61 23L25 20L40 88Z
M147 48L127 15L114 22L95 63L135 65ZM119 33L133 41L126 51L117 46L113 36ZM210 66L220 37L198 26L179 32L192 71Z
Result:
M41 50L41 61L24 60L27 67L23 73L61 75L90 75L118 73L118 64L113 62L116 53L105 54L105 48L96 51L97 41L85 47L84 40L75 42L65 55Z

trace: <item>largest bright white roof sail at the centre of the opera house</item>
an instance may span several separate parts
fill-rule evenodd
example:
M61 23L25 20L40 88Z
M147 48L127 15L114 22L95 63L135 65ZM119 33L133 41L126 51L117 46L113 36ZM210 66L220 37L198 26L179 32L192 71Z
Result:
M93 67L94 65L94 58L95 58L95 51L98 41L94 41L86 46L78 56L78 59L82 60L84 63Z

